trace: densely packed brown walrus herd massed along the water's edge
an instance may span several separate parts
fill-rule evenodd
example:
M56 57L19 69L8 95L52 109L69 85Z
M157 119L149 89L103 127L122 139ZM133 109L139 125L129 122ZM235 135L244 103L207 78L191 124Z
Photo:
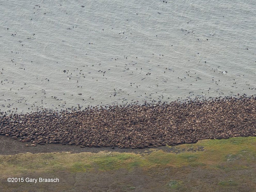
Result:
M0 134L32 146L150 148L256 136L256 97L43 110L0 116Z

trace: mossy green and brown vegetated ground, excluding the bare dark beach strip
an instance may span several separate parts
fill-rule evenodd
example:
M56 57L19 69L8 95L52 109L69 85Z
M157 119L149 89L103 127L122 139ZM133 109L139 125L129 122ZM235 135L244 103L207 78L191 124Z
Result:
M10 183L6 182L8 177L29 175L81 177L84 185L92 183L88 176L97 176L95 180L99 182L124 178L114 185L102 181L102 186L107 186L109 191L115 188L120 191L147 191L145 182L155 183L149 191L256 191L256 137L203 140L166 148L170 152L151 148L148 154L101 151L2 155L0 181L5 191L10 187ZM83 180L85 175L87 178ZM102 175L108 178L102 178ZM130 177L141 179L141 184L136 180L125 180ZM158 179L154 180L156 177ZM12 183L12 186L25 188L26 184ZM27 187L33 189L35 184L27 184ZM63 189L67 189L65 187L63 184ZM58 185L58 188L61 189L61 186ZM68 187L68 190L72 189Z

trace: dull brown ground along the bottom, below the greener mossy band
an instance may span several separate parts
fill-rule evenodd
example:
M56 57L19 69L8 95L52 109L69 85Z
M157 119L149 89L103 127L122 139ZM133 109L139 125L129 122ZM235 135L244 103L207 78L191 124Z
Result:
M120 169L108 172L55 172L44 174L45 178L58 177L59 183L7 183L1 179L1 191L65 191L65 192L128 192L128 191L232 191L253 192L254 184L247 183L244 177L255 178L254 169L226 173L224 170L212 172L199 167L184 167L182 170L174 168L154 168L150 172L137 168L133 171ZM236 177L234 177L236 175ZM42 174L28 174L26 177L39 178ZM230 180L241 180L238 185ZM223 182L223 185L220 183Z

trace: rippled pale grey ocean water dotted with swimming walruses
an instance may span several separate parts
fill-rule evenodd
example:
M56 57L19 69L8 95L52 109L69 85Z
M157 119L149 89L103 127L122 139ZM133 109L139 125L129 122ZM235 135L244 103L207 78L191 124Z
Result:
M253 95L255 29L254 0L1 0L0 109Z

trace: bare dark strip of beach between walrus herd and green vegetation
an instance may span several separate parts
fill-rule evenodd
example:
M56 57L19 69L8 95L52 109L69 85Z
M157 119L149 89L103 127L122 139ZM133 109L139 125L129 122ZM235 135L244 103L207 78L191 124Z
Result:
M250 136L249 136L250 137ZM254 136L255 137L255 136ZM236 139L236 138L242 138L242 137L230 137L229 139ZM248 138L248 137L244 137ZM217 140L217 139L216 139ZM223 139L221 139L223 140ZM220 140L220 141L221 141ZM226 139L225 139L226 140ZM201 140L201 141L207 141L207 140ZM211 141L211 140L208 140ZM134 154L150 154L156 150L162 150L166 153L181 153L186 152L184 149L179 149L180 145L176 146L160 146L160 147L153 147L153 148L111 148L111 147L85 147L80 148L79 146L75 145L61 145L61 144L45 144L45 145L37 145L35 147L32 146L25 146L25 144L20 143L18 140L13 140L11 137L6 137L4 135L0 135L0 145L2 146L0 148L0 155L16 155L20 153L32 153L32 154L38 154L38 153L61 153L61 152L69 152L69 153L84 153L84 152L90 152L90 153L99 153L102 151L105 152L118 152L118 153L134 153ZM184 144L184 145L191 145L193 144ZM196 143L198 145L198 142ZM200 144L199 144L200 145ZM177 148L178 147L178 148ZM182 148L182 147L181 147ZM196 152L196 151L204 151L203 147L197 147L194 148L194 151L188 150L187 152Z

